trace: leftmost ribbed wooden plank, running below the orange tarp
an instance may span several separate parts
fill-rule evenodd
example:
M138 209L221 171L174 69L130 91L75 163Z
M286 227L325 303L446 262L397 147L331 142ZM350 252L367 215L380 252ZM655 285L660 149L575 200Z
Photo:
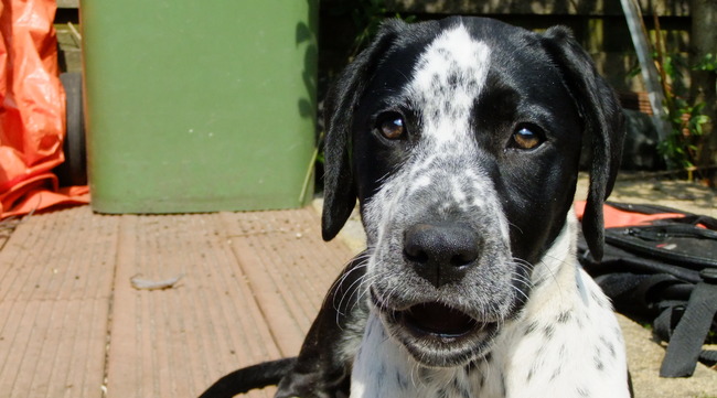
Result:
M0 251L3 397L98 397L117 218L25 217Z

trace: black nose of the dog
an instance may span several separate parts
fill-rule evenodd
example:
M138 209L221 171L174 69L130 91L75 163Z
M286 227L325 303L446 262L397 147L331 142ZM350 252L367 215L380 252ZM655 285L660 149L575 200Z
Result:
M406 259L437 288L460 281L479 251L478 234L465 225L416 224L404 235Z

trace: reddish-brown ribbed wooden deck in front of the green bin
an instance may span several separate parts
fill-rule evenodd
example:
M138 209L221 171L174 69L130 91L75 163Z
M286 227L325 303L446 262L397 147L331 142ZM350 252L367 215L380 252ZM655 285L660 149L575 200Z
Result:
M296 355L352 255L319 223L312 208L25 217L0 250L0 397L195 397Z

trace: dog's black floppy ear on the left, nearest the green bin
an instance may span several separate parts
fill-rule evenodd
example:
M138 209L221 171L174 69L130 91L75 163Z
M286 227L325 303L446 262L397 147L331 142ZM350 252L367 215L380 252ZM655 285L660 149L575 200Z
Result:
M339 234L356 204L351 165L353 114L383 54L406 24L398 20L382 24L372 44L343 71L324 101L324 202L321 234L331 240Z

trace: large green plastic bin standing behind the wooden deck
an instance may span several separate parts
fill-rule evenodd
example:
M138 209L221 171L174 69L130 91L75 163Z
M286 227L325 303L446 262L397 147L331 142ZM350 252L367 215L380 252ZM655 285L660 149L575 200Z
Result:
M93 208L303 206L313 180L317 7L83 0Z

